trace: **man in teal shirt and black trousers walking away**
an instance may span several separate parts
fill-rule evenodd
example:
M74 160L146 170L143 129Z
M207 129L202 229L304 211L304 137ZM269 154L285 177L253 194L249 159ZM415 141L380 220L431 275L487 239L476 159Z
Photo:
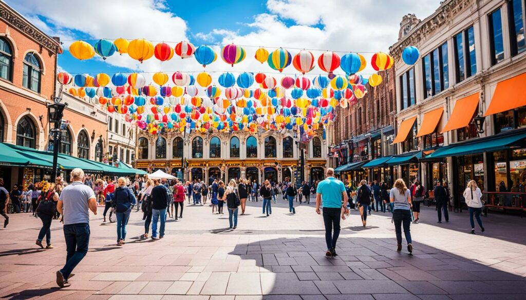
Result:
M334 178L334 169L328 168L326 174L327 178L321 181L316 189L316 212L321 214L320 204L323 201L323 223L325 223L325 241L327 242L325 255L333 257L337 255L336 241L340 235L340 216L345 220L345 215L349 214L348 198L345 184Z

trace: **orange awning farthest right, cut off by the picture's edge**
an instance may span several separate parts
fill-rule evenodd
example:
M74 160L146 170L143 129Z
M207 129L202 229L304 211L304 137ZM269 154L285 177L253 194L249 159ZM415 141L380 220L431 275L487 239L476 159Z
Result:
M500 81L484 117L526 105L526 73Z

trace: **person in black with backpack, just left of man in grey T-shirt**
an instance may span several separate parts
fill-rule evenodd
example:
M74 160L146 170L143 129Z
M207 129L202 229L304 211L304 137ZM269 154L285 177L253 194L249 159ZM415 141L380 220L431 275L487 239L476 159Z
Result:
M55 190L55 183L50 184L38 199L38 206L36 209L36 214L38 218L42 221L42 228L38 233L35 244L44 249L42 240L46 236L46 249L53 249L51 245L51 221L55 215L56 203L58 201L58 193Z

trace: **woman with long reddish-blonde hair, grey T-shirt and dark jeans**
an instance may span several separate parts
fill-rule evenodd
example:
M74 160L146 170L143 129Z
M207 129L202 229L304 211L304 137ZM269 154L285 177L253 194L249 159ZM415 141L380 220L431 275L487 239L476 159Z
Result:
M407 189L403 179L397 179L395 185L389 193L391 203L393 203L393 222L397 240L397 251L402 251L402 224L403 233L406 235L407 251L413 253L411 244L411 192Z

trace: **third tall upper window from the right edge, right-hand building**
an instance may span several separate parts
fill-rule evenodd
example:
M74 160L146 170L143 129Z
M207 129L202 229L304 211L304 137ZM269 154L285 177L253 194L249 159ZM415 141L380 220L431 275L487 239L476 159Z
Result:
M453 37L456 82L477 73L477 56L475 54L475 33L473 26Z

